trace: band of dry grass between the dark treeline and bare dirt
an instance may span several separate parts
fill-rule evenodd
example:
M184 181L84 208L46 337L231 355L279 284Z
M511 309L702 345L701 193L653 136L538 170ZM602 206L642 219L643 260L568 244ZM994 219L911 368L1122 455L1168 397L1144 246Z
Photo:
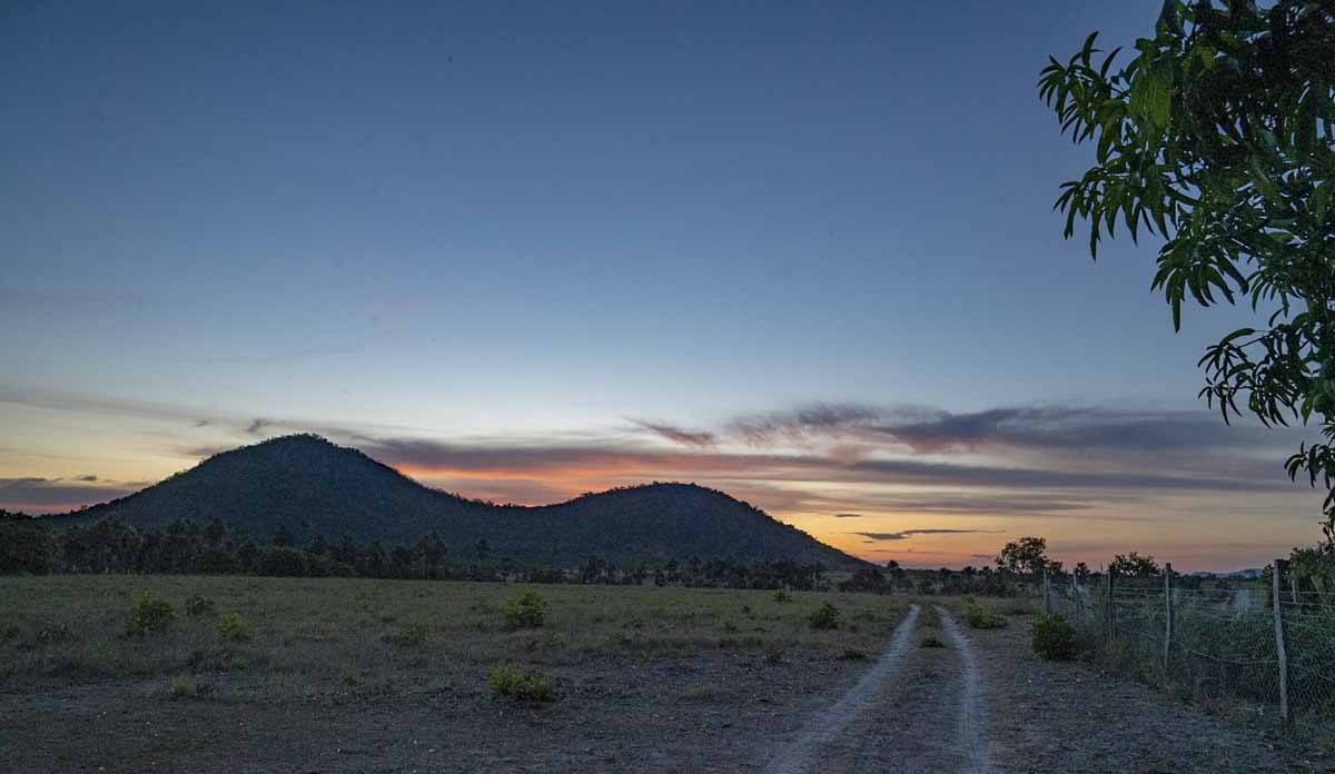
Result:
M589 659L702 653L782 653L785 661L878 653L904 598L864 594L533 586L550 602L543 626L513 630L502 610L521 587L364 579L48 576L0 579L0 689L40 690L117 678L244 674L268 695L411 690L430 674L502 663L578 667ZM180 609L194 597L235 611L248 638L210 615L127 637L142 591ZM813 630L832 602L846 625ZM68 637L45 637L63 631ZM411 633L411 647L405 646ZM773 658L772 658L773 661ZM449 669L447 669L449 667ZM426 674L425 674L426 673Z

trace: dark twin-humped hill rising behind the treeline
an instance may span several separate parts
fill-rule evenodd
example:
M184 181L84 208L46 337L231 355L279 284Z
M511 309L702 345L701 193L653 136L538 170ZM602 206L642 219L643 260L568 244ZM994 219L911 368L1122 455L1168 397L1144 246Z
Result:
M224 451L129 496L49 518L112 516L154 528L182 518L218 518L264 542L286 527L299 544L344 532L363 543L414 543L435 530L451 552L485 539L495 558L557 566L591 556L622 564L690 556L861 564L760 508L694 484L654 483L551 506L497 506L425 487L315 435Z

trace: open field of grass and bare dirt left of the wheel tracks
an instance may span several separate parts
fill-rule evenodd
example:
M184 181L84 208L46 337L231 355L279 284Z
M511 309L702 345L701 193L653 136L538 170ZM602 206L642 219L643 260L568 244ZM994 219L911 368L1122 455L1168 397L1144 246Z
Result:
M525 589L545 621L514 629L506 603ZM132 617L144 591L174 615L132 634L131 621L154 623ZM187 614L200 599L211 609ZM826 603L837 627L813 629ZM666 587L5 578L0 770L746 767L845 690L906 607Z

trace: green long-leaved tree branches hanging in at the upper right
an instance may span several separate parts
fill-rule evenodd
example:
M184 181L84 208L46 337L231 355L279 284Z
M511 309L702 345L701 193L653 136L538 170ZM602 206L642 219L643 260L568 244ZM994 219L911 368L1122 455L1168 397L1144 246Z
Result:
M1267 426L1318 418L1324 442L1287 468L1327 490L1335 548L1335 11L1169 0L1120 68L1120 49L1097 61L1096 37L1039 80L1061 132L1096 145L1061 185L1065 236L1087 220L1095 258L1119 220L1163 240L1153 288L1175 328L1188 296L1272 310L1207 348L1200 395L1226 422L1239 399Z

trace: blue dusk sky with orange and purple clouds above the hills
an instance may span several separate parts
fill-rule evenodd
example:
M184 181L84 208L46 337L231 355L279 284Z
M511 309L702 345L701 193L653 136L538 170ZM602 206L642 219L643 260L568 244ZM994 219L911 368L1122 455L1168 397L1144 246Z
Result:
M0 508L287 432L545 503L722 488L860 556L1320 534L1195 363L1247 310L1061 239L1035 83L1157 1L7 3Z

